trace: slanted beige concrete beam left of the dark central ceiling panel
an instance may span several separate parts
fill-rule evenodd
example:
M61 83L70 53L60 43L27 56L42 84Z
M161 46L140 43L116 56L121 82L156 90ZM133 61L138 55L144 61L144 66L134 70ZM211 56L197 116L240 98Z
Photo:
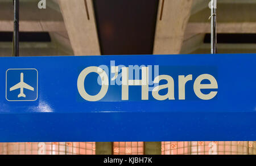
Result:
M100 55L91 0L59 0L65 27L76 56Z

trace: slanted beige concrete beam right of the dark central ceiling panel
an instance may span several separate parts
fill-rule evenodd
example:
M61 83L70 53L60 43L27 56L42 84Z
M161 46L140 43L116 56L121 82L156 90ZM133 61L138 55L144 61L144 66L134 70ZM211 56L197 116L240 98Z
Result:
M193 1L160 0L154 54L179 54Z

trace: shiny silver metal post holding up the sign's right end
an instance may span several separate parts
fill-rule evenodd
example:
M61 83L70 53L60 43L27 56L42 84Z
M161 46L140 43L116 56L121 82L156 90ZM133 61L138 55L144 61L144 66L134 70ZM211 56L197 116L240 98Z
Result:
M216 9L217 9L217 0L212 0L210 2L210 8L211 8L211 53L217 54L217 27L216 27Z

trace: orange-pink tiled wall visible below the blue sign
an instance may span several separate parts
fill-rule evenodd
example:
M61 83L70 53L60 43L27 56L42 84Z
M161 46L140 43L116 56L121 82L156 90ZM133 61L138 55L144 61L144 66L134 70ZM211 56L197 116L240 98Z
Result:
M0 155L94 155L95 142L0 143ZM143 142L114 142L114 155L143 155ZM162 142L162 155L256 155L256 141Z

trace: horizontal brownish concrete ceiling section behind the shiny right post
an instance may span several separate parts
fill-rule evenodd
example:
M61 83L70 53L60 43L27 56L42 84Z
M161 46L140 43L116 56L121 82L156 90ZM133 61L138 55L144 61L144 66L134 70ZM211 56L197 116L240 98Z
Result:
M232 2L233 1L234 0L232 0ZM222 3L218 2L218 33L256 33L256 1L240 1L243 3L236 1L236 3L230 4L224 2L231 1L226 0ZM209 16L210 9L208 7L196 14L192 14L189 18L186 35L189 33L210 33Z

